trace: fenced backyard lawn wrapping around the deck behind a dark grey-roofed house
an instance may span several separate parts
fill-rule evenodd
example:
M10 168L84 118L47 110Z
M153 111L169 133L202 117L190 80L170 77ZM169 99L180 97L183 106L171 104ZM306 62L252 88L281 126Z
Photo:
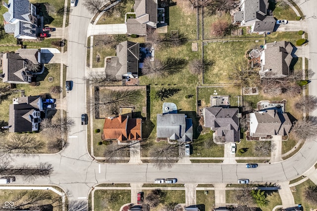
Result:
M198 88L198 99L201 100L202 106L211 106L210 97L216 90L217 95L229 95L230 105L238 106L238 98L236 96L241 95L241 90L237 86L228 87L204 87Z

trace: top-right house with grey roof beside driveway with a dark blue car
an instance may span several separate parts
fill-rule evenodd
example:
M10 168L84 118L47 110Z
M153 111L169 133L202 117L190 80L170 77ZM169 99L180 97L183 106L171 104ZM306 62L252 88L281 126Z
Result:
M251 33L272 32L275 19L268 10L268 0L241 0L240 10L233 15L233 22L251 26Z

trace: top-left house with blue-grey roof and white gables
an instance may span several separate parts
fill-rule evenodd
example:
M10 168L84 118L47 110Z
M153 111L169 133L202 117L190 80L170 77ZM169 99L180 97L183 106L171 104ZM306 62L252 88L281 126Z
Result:
M5 33L18 39L37 39L37 14L29 0L9 0L3 3L8 11L3 14Z

